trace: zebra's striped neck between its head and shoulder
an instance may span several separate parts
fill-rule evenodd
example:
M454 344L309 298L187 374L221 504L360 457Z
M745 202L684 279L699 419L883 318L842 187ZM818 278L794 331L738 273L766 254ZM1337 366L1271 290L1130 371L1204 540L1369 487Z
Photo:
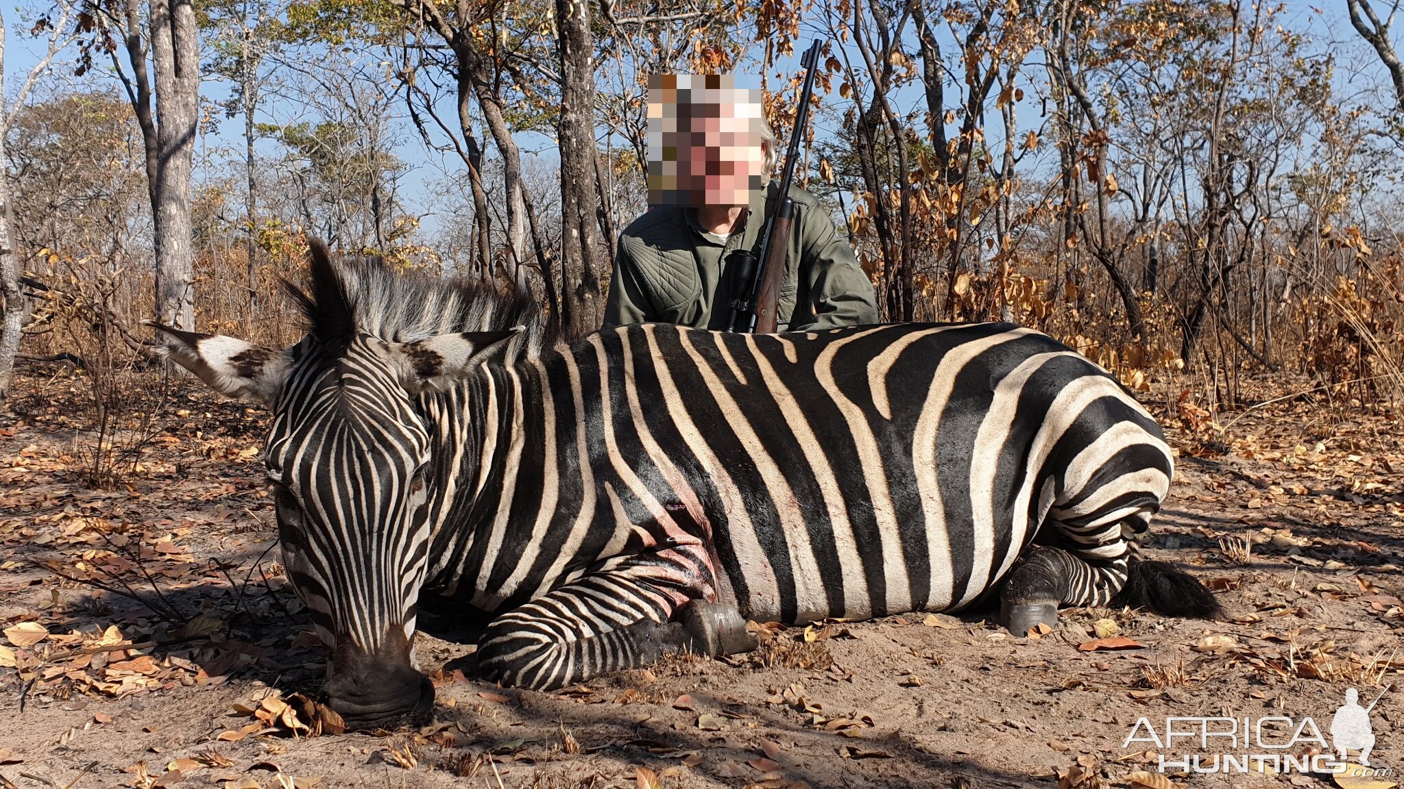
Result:
M518 486L542 476L543 378L535 358L490 365L427 403L437 428L428 496L431 594L473 598L484 611L494 609L482 592Z

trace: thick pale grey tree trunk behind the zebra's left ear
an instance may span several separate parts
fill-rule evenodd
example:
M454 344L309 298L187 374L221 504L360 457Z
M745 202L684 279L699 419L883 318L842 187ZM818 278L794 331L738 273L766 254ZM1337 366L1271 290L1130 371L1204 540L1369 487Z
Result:
M156 65L159 159L153 190L156 317L195 329L191 170L199 117L199 49L191 0L152 0L152 59Z

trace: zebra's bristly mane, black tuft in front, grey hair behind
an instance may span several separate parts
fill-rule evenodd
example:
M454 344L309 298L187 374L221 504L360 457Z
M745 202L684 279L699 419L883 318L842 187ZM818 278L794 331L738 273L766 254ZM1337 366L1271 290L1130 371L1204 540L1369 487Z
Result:
M413 343L458 331L501 331L525 326L508 358L536 355L548 337L541 307L528 295L501 293L463 277L435 277L425 271L395 271L379 257L331 260L322 241L312 241L306 288L284 281L307 333L333 357L357 334L389 343Z

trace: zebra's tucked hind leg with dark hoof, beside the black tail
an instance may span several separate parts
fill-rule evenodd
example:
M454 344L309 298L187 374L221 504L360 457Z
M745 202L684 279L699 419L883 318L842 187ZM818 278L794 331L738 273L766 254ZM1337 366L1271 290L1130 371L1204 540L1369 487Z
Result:
M1057 626L1061 605L1105 605L1126 583L1126 556L1087 562L1067 550L1035 546L1009 573L1000 594L1000 623L1015 636Z

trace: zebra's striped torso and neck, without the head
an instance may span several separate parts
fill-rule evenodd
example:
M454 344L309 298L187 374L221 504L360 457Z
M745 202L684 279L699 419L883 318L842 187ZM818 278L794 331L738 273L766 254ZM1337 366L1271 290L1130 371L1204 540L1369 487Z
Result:
M1122 525L1143 531L1171 476L1160 430L1106 372L1008 324L630 326L484 365L424 406L453 489L425 591L515 611L515 642L581 609L590 632L667 622L691 598L783 622L955 609L1040 526L1108 569L1081 594L1106 602ZM529 605L581 583L597 594L563 616Z

